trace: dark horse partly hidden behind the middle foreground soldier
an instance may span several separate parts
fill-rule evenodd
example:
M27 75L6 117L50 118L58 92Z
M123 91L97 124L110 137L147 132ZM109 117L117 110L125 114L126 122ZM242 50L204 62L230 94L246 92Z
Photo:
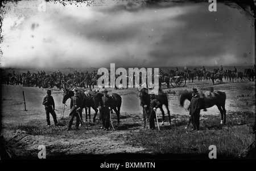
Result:
M93 101L95 104L95 107L98 108L99 104L100 104L100 99L103 96L102 92L97 92L96 95L94 95L93 97ZM117 114L117 125L120 123L120 108L122 105L122 97L120 95L118 95L117 93L113 93L112 96L113 99L113 104L111 104L110 108L113 109L115 111L115 114ZM113 111L111 110L111 112L113 113Z

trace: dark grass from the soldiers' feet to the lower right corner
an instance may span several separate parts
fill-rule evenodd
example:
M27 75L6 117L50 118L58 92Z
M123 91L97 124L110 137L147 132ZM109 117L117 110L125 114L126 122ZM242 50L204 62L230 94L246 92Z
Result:
M203 117L201 117L203 118ZM202 157L208 159L209 146L217 148L218 159L237 159L251 143L254 142L251 126L254 123L254 113L229 112L226 114L226 125L220 125L220 116L204 116L200 121L200 131L184 129L187 121L181 120L175 125L161 126L160 131L142 129L143 123L125 122L122 120L117 131L125 131L122 134L108 132L111 139L125 141L133 147L143 147L146 150L140 153L153 153L167 155L174 159L184 157ZM61 120L63 127L47 127L39 121L25 125L9 126L12 130L26 131L28 135L43 135L49 137L88 139L100 137L106 133L99 129L101 124L86 123L80 131L65 131L69 118ZM75 121L74 121L75 122ZM73 125L75 123L73 122ZM148 123L147 123L148 124ZM72 126L73 128L75 126ZM117 132L116 131L116 132ZM189 158L190 159L190 158Z

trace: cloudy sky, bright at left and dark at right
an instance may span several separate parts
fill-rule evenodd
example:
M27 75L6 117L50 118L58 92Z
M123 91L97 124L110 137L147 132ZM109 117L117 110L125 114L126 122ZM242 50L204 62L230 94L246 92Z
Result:
M253 18L234 3L91 6L7 2L1 67L164 67L252 65ZM42 8L41 8L42 9Z

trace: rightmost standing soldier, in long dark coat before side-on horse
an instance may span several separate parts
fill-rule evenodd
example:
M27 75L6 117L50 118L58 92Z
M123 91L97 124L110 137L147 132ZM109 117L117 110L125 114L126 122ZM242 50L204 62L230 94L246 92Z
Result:
M201 102L200 102L200 98L199 98L199 95L197 93L197 89L196 88L193 88L193 91L192 91L192 99L191 99L191 102L188 106L188 109L190 109L190 116L191 116L191 122L192 122L192 125L193 125L193 131L195 130L199 130L199 125L200 125L200 109L201 109Z

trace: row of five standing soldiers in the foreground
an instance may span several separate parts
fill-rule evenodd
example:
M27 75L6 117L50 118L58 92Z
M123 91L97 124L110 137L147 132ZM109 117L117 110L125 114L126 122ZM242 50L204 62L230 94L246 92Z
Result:
M83 125L82 121L82 99L79 97L79 89L74 88L73 89L74 96L71 97L71 102L70 102L70 109L71 112L69 113L69 116L71 116L68 126L67 126L67 131L71 130L72 124L73 124L73 119L76 117L76 123L75 123L75 130L79 130L79 126ZM199 118L200 118L200 109L201 109L201 103L199 102L200 98L197 95L197 89L193 88L192 90L192 100L189 104L188 109L190 110L189 114L191 118L189 119L189 123L192 122L192 127L193 131L198 131L199 130ZM109 131L110 130L110 110L112 108L111 104L113 103L113 99L111 96L108 95L108 90L104 89L102 91L104 94L99 102L98 109L100 109L100 119L102 121L102 126L101 129ZM57 116L55 113L55 102L53 100L53 97L51 96L51 90L47 90L47 95L43 99L43 105L46 110L46 121L47 121L47 126L51 126L51 122L49 119L49 114L51 113L54 121L55 126L60 126L60 123L57 121ZM160 106L160 102L158 99L155 98L155 93L150 92L150 111L149 111L149 129L150 130L155 130L155 119L156 118L156 109L158 109ZM146 108L147 106L144 105ZM206 109L204 109L206 111Z

